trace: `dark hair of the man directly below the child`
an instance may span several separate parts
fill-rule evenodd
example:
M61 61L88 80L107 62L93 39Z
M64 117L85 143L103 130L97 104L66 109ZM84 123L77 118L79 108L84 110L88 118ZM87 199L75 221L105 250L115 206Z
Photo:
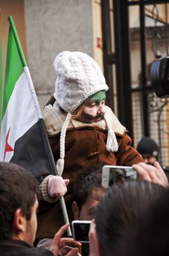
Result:
M84 170L76 180L74 184L74 200L76 201L79 211L81 211L82 206L86 203L87 198L93 192L95 187L101 186L101 176L103 163L94 165L89 170Z

